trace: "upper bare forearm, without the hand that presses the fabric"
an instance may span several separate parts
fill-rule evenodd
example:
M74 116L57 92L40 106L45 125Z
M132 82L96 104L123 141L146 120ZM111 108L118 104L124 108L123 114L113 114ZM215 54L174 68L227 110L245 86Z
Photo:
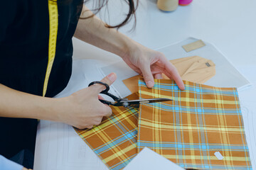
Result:
M87 10L83 6L81 18L92 15L92 12ZM131 47L137 44L137 42L119 33L114 28L106 28L105 23L100 18L97 18L97 16L80 19L78 27L75 30L75 38L112 52L120 57L127 55Z

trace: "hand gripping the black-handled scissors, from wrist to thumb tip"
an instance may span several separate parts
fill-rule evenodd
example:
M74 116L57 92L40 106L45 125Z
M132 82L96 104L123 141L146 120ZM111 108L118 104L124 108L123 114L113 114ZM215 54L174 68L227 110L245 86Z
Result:
M111 73L102 82L109 86L117 79L116 74ZM99 96L105 89L102 84L94 84L85 89L75 92L71 96L60 98L60 122L73 125L75 128L92 128L93 125L99 125L104 116L110 116L112 110L110 106L99 101L103 99Z

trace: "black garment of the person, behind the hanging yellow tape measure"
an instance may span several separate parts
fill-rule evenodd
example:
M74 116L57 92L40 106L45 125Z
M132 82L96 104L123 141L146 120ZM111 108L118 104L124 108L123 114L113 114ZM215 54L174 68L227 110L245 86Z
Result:
M46 92L48 97L62 91L70 79L72 37L82 2L58 0L58 40ZM48 64L48 40L48 0L1 1L0 84L42 96ZM32 119L0 118L0 154L11 158L21 149L33 152L36 125L37 120Z

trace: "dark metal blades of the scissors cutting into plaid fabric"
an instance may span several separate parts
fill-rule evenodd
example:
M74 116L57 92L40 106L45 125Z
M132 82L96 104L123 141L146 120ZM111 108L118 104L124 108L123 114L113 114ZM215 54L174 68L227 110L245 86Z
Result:
M163 102L163 101L173 101L170 98L147 98L147 99L138 99L138 100L123 100L119 101L115 104L115 106L139 106L139 104L146 104L146 103L156 103L156 102Z

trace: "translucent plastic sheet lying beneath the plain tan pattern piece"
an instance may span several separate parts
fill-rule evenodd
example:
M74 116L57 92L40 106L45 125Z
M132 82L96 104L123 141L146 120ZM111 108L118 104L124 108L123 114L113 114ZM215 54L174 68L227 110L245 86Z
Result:
M156 49L163 52L168 60L174 60L181 57L191 57L198 55L200 57L212 60L215 63L216 74L210 80L206 81L206 85L218 86L218 87L236 87L238 91L251 86L250 82L240 74L238 69L236 69L233 64L228 61L225 56L209 42L205 42L206 46L193 50L191 52L186 52L182 45L187 45L191 42L195 42L198 39L188 38L181 42L177 42L173 45L168 45L166 47L161 47ZM107 75L110 72L117 73L117 81L114 82L112 86L114 89L119 91L120 96L128 96L131 94L127 86L122 82L123 79L128 79L129 77L134 77L137 75L132 69L130 69L124 62L117 62L112 65L102 67L102 73Z

